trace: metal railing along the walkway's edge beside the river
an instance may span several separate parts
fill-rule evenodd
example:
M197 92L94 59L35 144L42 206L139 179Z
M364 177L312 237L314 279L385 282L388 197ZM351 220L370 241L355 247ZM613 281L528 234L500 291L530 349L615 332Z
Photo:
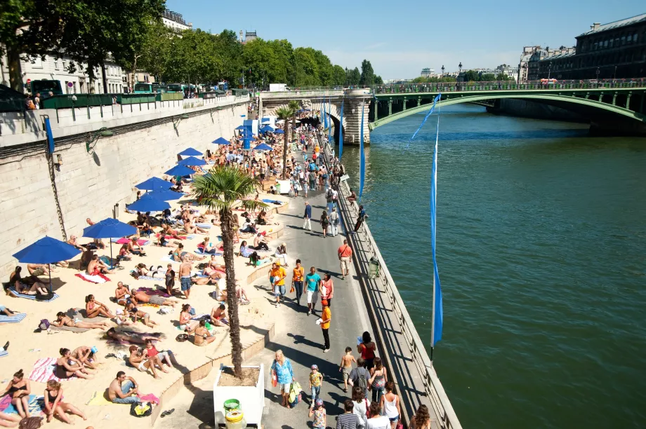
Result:
M324 153L324 161L328 167L331 167L329 145L322 142L321 136L318 133L317 136ZM344 224L351 226L352 219L356 219L359 215L359 208L355 202L348 201L350 186L347 181L339 184L338 193L337 202L340 205L339 213L343 217ZM423 381L426 395L433 406L435 415L439 418L437 423L444 429L461 429L462 426L458 420L458 416L449 401L449 397L444 392L444 387L440 383L440 379L438 379L435 373L433 362L431 362L428 353L426 353L426 347L417 333L406 305L400 296L400 292L397 290L395 281L390 276L390 271L388 271L388 267L381 256L381 252L377 247L367 222L363 222L362 228L358 233L348 236L348 238L350 238L349 241L351 241L353 251L355 252L355 258L360 261L360 266L367 268L371 257L375 257L379 261L381 269L379 270L378 280L381 282L381 287L377 285L378 291L386 295L392 306L393 313L400 327L400 332L406 340L405 345L409 348L412 361ZM367 275L367 269L363 274Z

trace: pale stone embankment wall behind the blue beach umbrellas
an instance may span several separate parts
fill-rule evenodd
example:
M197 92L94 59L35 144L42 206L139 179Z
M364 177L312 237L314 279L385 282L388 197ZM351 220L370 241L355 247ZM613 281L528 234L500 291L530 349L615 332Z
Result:
M67 237L82 236L86 218L99 221L111 217L113 207L123 212L136 196L133 187L152 177L162 177L173 167L177 154L187 147L199 151L217 149L211 142L229 138L242 123L248 102L237 102L219 109L186 109L189 118L159 112L140 121L87 124L86 132L58 138L54 130L53 161L62 163L55 171L55 188L50 178L46 141L42 133L32 132L33 141L6 144L11 136L0 137L0 278L6 281L16 265L11 256L43 236L62 238L55 193ZM55 116L50 115L55 123ZM177 129L173 128L173 119ZM115 119L116 121L116 119ZM53 126L55 125L53 123ZM121 126L119 126L121 125ZM86 141L100 126L113 130L112 137L100 137L95 154L88 154ZM38 127L37 127L38 128ZM25 127L27 130L27 127ZM62 130L61 130L62 131ZM5 141L3 142L3 139Z

